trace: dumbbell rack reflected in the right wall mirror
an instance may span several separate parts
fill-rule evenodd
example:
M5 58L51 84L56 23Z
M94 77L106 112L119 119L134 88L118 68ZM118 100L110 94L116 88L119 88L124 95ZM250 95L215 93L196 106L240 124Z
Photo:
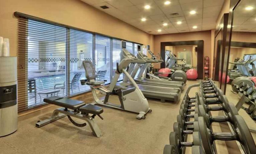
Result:
M239 85L235 85L234 84L233 86L235 86L235 88L239 91L238 94L241 96L241 98L239 99L238 103L236 104L237 111L239 111L241 108L242 109L246 109L245 107L243 107L243 104L245 102L248 102L248 101L250 101L252 104L256 105L254 101L252 101L252 100L250 100L248 98L249 96L244 95L244 91L241 88L239 88ZM256 133L256 129L255 128L249 128L249 130L250 130L250 132Z

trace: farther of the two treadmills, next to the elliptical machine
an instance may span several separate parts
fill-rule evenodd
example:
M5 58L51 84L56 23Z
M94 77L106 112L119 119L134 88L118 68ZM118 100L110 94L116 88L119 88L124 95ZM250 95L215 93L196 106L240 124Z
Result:
M160 86L160 87L171 87L171 88L179 88L181 89L181 91L183 91L185 83L184 82L180 82L180 81L170 81L170 80L157 80L157 79L148 79L143 77L143 73L145 73L145 70L147 70L147 68L149 67L149 65L151 63L162 63L164 62L163 60L157 60L157 59L151 59L148 56L146 56L145 54L143 54L141 52L141 46L138 45L138 54L137 54L137 58L141 59L141 60L146 60L147 63L142 64L141 70L139 72L139 74L136 76L140 65L134 65L131 64L129 66L129 70L132 70L132 74L131 77L134 79L134 81L137 84L143 84L143 85L152 85L152 86ZM128 70L128 73L130 73ZM126 79L126 78L125 78Z

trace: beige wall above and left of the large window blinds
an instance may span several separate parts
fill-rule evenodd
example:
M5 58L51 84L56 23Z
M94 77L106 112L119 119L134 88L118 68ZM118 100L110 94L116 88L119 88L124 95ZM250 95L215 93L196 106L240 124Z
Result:
M0 0L0 36L10 39L11 56L17 52L16 11L154 47L154 36L80 0Z

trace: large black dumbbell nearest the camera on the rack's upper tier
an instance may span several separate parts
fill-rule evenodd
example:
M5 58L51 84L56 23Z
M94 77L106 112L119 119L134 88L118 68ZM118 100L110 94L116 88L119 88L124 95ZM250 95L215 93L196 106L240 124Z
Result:
M204 120L204 117L198 117L199 131L201 134L202 145L204 147L205 153L216 153L216 150L214 149L213 146L215 140L236 140L242 144L242 147L244 148L247 154L255 153L256 146L244 119L240 115L234 115L233 119L235 121L233 125L233 133L215 133L211 131L209 128L207 128L207 124Z

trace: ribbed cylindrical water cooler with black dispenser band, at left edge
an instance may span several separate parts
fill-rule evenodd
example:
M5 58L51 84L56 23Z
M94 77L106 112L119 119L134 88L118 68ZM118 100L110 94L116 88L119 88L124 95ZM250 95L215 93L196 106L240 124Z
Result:
M0 137L17 130L17 57L0 57Z

